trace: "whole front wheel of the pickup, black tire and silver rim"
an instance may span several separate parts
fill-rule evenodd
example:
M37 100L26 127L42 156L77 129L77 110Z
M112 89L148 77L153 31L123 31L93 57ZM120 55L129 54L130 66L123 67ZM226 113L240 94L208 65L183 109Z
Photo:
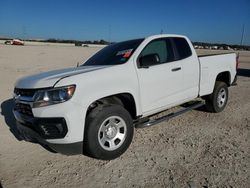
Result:
M98 159L117 158L129 147L133 133L132 118L122 106L98 106L86 119L84 150Z

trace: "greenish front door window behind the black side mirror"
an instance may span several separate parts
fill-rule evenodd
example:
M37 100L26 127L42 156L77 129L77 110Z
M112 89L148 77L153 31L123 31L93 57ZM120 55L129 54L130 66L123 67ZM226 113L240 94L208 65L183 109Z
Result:
M140 56L149 54L157 54L160 58L160 63L173 61L174 53L171 43L166 39L160 39L150 42L141 52Z

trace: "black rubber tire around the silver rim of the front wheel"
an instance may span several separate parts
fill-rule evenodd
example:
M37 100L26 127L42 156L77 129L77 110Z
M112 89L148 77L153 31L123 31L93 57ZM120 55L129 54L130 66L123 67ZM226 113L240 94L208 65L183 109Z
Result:
M106 132L108 128L106 128L106 126L107 127L110 126L110 123L108 123L108 125L105 125L104 123L106 123L105 121L107 119L113 118L113 117L120 118L120 119L118 119L118 121L123 120L122 125L123 126L125 125L123 127L123 131L124 131L125 136L123 139L120 139L121 143L118 142L121 145L119 146L119 144L117 144L115 146L115 147L119 146L118 148L116 148L114 150L109 150L109 149L111 149L111 146L109 148L109 142L107 142L108 144L106 144L106 142L105 142L106 145L103 144L103 142L100 141L101 140L100 137L101 136L104 137L103 136L104 133L106 135L105 138L108 137L107 132ZM109 121L109 120L107 120L107 121ZM116 125L116 124L113 124L113 125ZM105 131L102 132L101 127L104 127ZM121 128L117 128L116 131L118 129L122 130ZM112 131L112 133L114 133L114 131ZM116 134L116 133L114 133L114 134ZM90 157L97 158L97 159L103 159L103 160L115 159L127 150L130 143L132 142L133 134L134 134L133 120L132 120L130 114L128 113L128 111L125 110L122 106L120 106L120 105L97 106L95 109L93 109L87 115L87 118L86 118L86 127L85 127L85 133L84 133L84 145L83 145L84 153ZM110 138L107 138L107 139L110 139ZM115 143L115 141L113 143ZM118 141L119 141L119 139L118 139Z

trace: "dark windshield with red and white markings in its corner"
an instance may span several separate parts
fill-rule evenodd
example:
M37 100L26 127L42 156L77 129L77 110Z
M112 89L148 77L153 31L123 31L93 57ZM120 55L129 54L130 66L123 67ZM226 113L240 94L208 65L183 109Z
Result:
M128 61L143 40L136 39L111 44L97 52L81 66L123 64Z

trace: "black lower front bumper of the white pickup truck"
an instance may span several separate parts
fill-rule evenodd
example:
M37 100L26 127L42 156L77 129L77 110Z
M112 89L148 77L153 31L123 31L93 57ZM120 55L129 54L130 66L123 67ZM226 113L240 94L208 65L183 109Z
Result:
M82 154L83 142L50 143L48 139L63 138L67 132L64 118L36 118L13 110L20 136L28 142L38 143L65 155Z

